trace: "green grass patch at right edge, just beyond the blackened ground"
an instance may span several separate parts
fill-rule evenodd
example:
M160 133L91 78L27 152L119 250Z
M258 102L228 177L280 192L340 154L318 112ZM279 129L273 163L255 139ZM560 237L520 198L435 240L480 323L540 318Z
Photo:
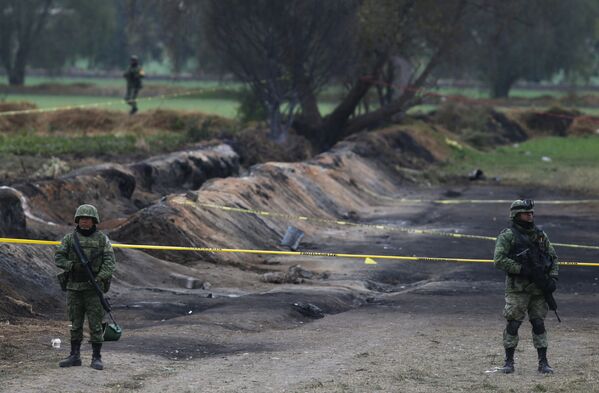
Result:
M464 176L480 168L501 182L599 191L599 135L546 137L490 152L455 149L450 162L435 168L444 176Z

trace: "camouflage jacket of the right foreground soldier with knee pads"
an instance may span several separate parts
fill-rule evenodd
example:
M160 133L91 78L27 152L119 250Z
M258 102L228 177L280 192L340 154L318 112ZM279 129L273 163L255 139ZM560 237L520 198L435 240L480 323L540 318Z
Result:
M519 275L522 266L515 260L515 255L521 250L516 250L517 239L513 230L516 228L506 228L497 237L493 258L495 267L506 273L506 292L530 292L540 295L542 291L529 278ZM541 251L549 256L553 264L547 273L551 277L557 277L559 271L557 254L547 238L547 234L536 227L530 230L524 228L519 230L531 243L538 244Z

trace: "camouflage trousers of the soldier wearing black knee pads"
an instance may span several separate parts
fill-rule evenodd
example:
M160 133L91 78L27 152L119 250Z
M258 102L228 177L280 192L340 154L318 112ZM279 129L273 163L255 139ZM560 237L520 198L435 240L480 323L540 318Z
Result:
M528 319L544 320L547 316L547 302L545 296L533 295L528 292L508 292L505 294L505 308L503 316L507 321L524 321L528 313ZM547 348L547 332L535 334L532 332L532 343L535 348ZM515 348L518 345L518 335L511 335L507 329L503 331L503 346Z

